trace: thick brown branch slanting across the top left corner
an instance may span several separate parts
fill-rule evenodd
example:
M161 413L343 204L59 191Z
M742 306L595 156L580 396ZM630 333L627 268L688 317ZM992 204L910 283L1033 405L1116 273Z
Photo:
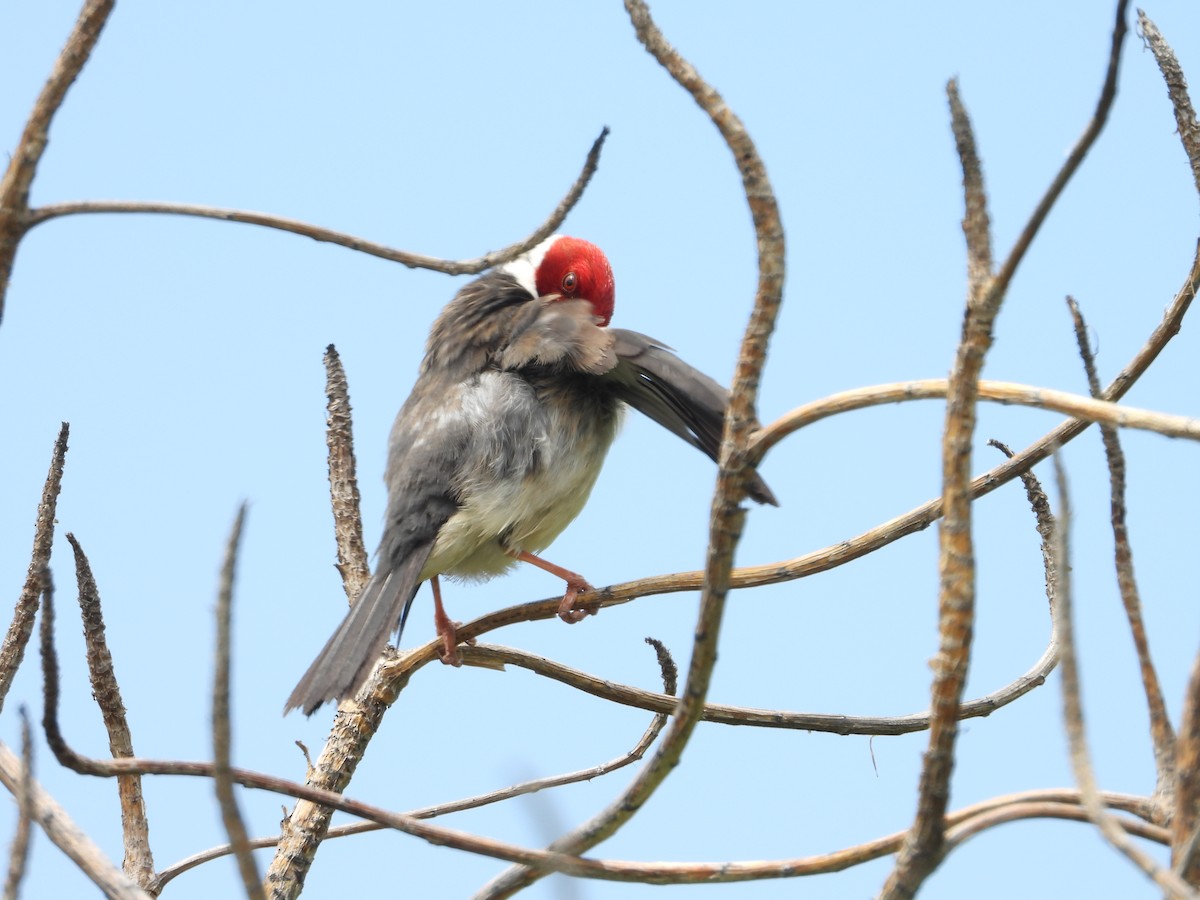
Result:
M50 122L67 96L67 89L83 71L91 55L100 32L113 11L115 0L88 0L67 42L50 70L50 77L34 102L34 109L25 121L17 149L8 161L8 168L0 179L0 319L4 319L5 295L12 277L12 264L17 257L17 245L25 236L30 223L29 188L37 174L37 166L50 140Z

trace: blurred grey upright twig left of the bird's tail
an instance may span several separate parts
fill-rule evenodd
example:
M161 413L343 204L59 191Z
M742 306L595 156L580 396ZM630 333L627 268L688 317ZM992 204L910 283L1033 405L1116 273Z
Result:
M224 563L221 566L221 587L217 590L217 647L216 672L212 676L212 787L216 791L217 805L221 808L221 821L238 860L238 872L241 886L251 900L265 900L263 883L254 864L254 854L250 848L250 835L246 823L238 810L238 798L233 792L233 779L229 774L229 745L233 743L229 727L229 661L232 640L229 619L233 611L233 584L238 566L238 545L241 541L241 529L246 522L246 504L241 504L234 520L229 541L226 545Z

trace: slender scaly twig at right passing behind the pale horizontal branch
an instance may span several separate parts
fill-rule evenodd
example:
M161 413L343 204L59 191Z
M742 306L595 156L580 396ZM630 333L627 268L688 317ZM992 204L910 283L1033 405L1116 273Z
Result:
M1073 296L1067 298L1075 325L1075 343L1084 362L1087 386L1092 396L1100 394L1100 379L1096 373L1096 356L1087 338L1087 323ZM1154 770L1157 773L1154 796L1159 799L1162 821L1170 818L1174 809L1175 793L1175 730L1166 713L1163 689L1154 670L1154 660L1150 655L1150 638L1146 636L1146 623L1141 616L1141 596L1138 592L1138 580L1133 574L1133 547L1129 544L1129 527L1126 522L1126 457L1121 449L1121 437L1110 425L1100 425L1100 439L1104 443L1104 456L1109 466L1109 506L1112 523L1114 563L1117 572L1117 588L1121 592L1121 604L1124 606L1129 622L1129 634L1133 636L1134 649L1138 653L1138 666L1141 671L1141 685L1146 692L1146 707L1150 712L1150 737L1154 745Z

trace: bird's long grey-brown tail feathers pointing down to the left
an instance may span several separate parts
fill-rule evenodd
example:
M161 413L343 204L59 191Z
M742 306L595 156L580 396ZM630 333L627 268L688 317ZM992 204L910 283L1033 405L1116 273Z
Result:
M430 550L426 546L424 552L406 554L395 568L385 568L386 560L380 559L342 624L293 689L284 714L300 709L312 715L328 701L349 697L362 686L388 637L403 630Z

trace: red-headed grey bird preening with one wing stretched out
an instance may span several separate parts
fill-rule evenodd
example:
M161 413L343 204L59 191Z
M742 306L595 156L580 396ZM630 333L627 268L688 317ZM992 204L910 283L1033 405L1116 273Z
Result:
M374 574L284 713L356 694L425 581L442 661L461 665L443 575L486 580L529 563L565 582L559 618L594 613L578 604L588 581L538 554L583 509L626 406L718 458L728 391L666 344L608 328L614 295L604 252L556 234L445 306L389 438ZM746 493L778 505L757 472Z

